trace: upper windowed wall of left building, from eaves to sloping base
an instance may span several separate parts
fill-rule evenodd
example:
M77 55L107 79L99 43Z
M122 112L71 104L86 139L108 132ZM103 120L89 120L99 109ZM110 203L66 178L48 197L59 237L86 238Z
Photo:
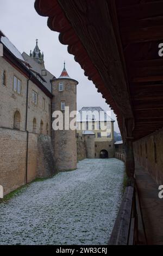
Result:
M6 72L6 85L2 85L2 74ZM14 76L21 80L21 93L13 90ZM26 97L27 78L10 63L0 58L0 127L13 128L15 111L20 112L20 129L26 130ZM37 105L32 102L32 91L37 93ZM43 99L45 99L45 109L43 109ZM28 91L28 116L27 130L33 132L33 120L36 119L36 133L40 133L40 123L43 122L42 133L47 134L48 124L49 134L51 133L51 99L46 96L39 87L29 81Z

